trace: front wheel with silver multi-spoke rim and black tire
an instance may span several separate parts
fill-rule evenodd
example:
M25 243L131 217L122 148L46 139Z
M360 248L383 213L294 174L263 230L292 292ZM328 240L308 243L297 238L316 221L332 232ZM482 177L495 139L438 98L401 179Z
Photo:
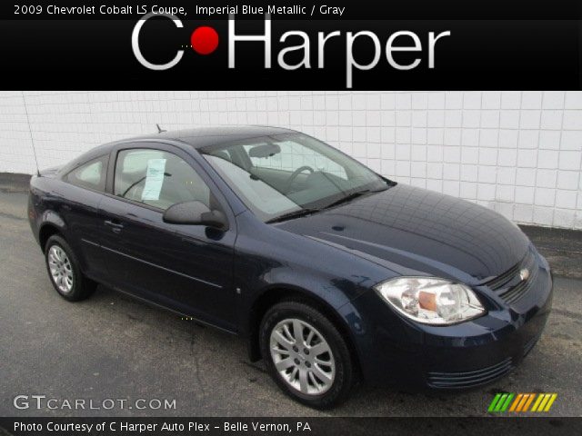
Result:
M263 317L259 342L268 372L288 396L316 409L346 401L354 362L336 326L314 307L274 305Z

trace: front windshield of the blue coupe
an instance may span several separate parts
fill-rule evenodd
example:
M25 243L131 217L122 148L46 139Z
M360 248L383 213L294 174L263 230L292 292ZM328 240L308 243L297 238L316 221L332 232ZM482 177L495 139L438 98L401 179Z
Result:
M384 179L306 134L275 134L200 150L263 221L313 213L386 189Z

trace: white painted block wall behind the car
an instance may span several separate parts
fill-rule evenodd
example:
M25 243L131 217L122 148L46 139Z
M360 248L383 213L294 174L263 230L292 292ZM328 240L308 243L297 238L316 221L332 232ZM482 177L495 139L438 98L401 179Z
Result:
M34 173L31 134L43 168L156 123L288 126L398 182L582 229L582 92L0 92L0 172Z

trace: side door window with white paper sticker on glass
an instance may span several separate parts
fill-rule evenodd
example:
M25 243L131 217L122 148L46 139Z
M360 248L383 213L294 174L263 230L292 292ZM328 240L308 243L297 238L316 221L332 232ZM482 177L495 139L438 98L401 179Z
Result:
M114 193L166 210L198 201L210 207L210 189L186 161L154 149L122 150L115 163Z

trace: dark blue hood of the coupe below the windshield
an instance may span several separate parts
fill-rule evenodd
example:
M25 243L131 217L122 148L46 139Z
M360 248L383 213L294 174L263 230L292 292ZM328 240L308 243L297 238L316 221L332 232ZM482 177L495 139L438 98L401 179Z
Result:
M528 240L500 214L397 184L351 203L279 224L399 274L482 282L523 259Z

